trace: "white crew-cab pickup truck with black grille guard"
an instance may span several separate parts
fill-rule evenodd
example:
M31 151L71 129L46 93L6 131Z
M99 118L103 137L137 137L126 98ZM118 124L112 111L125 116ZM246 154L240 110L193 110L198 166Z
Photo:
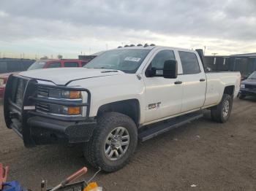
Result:
M12 75L4 95L8 128L26 147L84 145L103 171L127 164L138 140L201 117L226 122L239 91L239 72L205 73L200 55L174 47L108 50L84 68Z

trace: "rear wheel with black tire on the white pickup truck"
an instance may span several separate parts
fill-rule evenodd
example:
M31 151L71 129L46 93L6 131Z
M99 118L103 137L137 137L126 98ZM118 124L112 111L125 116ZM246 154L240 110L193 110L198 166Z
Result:
M228 109L225 108L225 102L228 102ZM227 122L230 117L233 106L233 96L228 94L223 94L222 101L217 105L211 108L211 119L216 122ZM226 110L225 110L226 109Z

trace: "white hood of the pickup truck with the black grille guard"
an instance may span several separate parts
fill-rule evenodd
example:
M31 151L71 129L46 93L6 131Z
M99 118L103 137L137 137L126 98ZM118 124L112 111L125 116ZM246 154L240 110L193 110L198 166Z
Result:
M47 80L55 83L56 85L66 85L67 83L77 79L106 77L120 74L124 74L124 72L111 69L86 68L37 69L20 73L23 77Z

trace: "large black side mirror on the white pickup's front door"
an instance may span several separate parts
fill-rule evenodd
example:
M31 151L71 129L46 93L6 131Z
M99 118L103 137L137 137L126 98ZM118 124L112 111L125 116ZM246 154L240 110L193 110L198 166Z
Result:
M164 78L175 79L178 76L178 63L175 60L167 60L164 63L164 69L162 71Z

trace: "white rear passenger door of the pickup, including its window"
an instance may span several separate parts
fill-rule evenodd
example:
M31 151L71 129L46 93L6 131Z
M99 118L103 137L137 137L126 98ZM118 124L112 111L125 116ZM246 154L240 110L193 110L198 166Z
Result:
M180 74L183 86L181 112L199 109L206 95L206 74L199 63L200 58L195 52L178 51L178 55L183 71Z

